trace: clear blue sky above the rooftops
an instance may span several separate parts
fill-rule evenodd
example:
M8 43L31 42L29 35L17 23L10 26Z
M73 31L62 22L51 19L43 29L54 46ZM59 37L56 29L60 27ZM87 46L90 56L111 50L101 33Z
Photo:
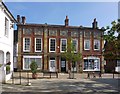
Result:
M93 19L99 28L118 19L117 2L5 2L16 18L25 16L27 23L64 25L66 15L70 26L91 27ZM119 7L120 8L120 7Z

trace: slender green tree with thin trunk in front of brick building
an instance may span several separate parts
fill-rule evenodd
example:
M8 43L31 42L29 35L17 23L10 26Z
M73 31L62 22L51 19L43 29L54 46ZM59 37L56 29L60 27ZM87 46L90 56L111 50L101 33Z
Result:
M62 57L65 58L73 67L73 78L74 78L74 68L75 62L80 61L82 59L82 55L80 52L76 52L76 47L71 41L72 39L68 39L67 47L64 53L62 53ZM71 70L70 70L71 73Z

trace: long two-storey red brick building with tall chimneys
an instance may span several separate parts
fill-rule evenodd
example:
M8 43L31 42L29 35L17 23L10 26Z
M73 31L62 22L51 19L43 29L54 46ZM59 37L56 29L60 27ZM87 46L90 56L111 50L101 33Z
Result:
M82 54L82 61L75 64L74 71L100 71L104 69L102 29L94 19L92 27L69 26L66 16L64 25L30 24L25 17L17 16L18 24L18 69L29 70L36 61L40 70L68 72L70 63L61 57L68 38Z

